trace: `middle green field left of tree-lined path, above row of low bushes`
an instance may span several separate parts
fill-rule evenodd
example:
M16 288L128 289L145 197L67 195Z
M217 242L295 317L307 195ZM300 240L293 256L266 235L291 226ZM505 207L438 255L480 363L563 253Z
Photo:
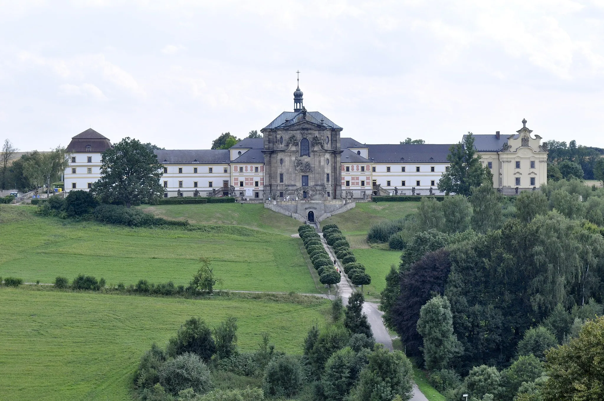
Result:
M126 228L41 217L34 210L0 205L0 276L53 283L59 275L72 280L91 274L108 284L141 278L188 284L203 256L223 280L219 289L320 292L301 254L300 239L289 235L224 225L205 226L204 231Z

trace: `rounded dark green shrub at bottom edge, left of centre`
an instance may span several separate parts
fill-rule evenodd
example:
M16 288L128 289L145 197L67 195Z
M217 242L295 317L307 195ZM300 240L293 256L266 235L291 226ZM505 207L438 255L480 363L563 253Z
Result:
M269 396L292 397L302 388L303 377L298 359L283 355L266 366L263 388Z

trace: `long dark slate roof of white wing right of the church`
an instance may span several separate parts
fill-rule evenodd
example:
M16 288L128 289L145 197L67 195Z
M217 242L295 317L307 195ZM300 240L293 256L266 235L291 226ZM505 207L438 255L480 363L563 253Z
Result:
M443 163L448 162L450 144L367 145L369 159L376 163Z

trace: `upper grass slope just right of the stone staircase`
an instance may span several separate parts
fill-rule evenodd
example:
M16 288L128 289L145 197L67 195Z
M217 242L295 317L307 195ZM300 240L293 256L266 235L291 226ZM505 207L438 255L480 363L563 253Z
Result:
M418 206L419 202L359 202L354 208L323 220L321 226L337 224L345 235L366 235L372 225L405 217Z

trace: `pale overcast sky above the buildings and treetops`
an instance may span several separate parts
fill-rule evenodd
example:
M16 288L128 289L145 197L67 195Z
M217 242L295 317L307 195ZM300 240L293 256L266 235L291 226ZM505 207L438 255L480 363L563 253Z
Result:
M604 147L604 0L2 1L0 140L209 149L304 106L362 143Z

